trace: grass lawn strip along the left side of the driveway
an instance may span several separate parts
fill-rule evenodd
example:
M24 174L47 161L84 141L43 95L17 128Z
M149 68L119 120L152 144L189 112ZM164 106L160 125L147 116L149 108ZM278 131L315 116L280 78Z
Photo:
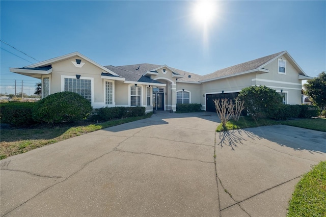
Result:
M88 132L149 118L151 116L152 113L148 113L145 116L131 117L88 125L62 124L58 126L46 127L39 126L20 129L1 129L0 159L21 154L48 144L57 143Z

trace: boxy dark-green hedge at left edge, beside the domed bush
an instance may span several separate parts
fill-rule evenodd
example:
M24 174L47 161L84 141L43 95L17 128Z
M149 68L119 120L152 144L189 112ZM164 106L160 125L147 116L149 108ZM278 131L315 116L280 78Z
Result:
M0 104L0 117L2 123L11 126L30 126L35 124L32 111L35 102L8 102Z

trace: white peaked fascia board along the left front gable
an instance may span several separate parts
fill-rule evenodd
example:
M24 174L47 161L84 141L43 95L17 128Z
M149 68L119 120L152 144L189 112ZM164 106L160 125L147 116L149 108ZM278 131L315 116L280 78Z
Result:
M72 53L68 53L67 55L63 55L63 56L60 56L60 57L56 57L56 58L52 58L52 59L49 59L49 60L45 60L45 61L42 61L42 62L39 62L39 63L35 63L35 64L32 64L32 65L29 65L29 66L26 66L26 68L36 68L36 67L42 67L42 66L48 66L52 63L56 63L56 62L59 62L59 61L62 61L62 60L66 60L66 59L69 59L69 58L72 58L72 57L80 57L90 63L92 63L93 65L101 68L103 71L106 71L112 75L116 75L118 76L118 74L114 73L113 71L105 68L104 66L101 66L100 64L96 63L95 61L89 59L88 57L82 55L82 53L79 53L79 52L72 52Z

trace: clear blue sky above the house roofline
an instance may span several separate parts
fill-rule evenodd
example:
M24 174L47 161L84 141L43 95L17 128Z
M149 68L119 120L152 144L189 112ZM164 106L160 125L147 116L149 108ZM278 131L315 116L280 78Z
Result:
M79 51L101 65L208 74L287 50L309 76L326 70L325 1L214 3L204 31L195 1L0 1L1 40L39 61ZM16 79L32 94L39 80L9 67L36 60L1 42L0 92L13 93Z

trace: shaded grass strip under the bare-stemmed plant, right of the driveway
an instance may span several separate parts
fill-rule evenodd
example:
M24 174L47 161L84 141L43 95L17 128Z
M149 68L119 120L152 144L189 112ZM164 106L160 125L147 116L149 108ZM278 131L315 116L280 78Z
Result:
M275 121L267 118L260 118L257 121L250 116L240 116L239 121L230 120L226 123L226 129L223 129L222 124L216 128L217 132L232 129L243 129L248 127L259 127L267 125L283 124L289 126L296 126L306 129L313 129L326 132L326 119L325 118L303 118L287 121Z

